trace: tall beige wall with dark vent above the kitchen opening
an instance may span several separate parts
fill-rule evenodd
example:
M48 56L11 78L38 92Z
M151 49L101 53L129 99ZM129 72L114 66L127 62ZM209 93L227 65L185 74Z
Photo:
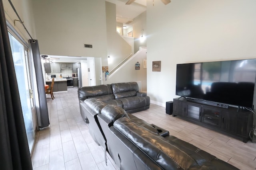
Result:
M41 54L102 57L107 64L105 1L33 0L33 7Z

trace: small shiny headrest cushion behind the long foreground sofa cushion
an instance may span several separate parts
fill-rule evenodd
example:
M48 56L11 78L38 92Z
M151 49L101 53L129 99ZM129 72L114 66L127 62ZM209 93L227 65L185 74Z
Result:
M110 121L116 121L120 117L128 117L124 109L115 105L107 105L101 110L101 114L107 117Z

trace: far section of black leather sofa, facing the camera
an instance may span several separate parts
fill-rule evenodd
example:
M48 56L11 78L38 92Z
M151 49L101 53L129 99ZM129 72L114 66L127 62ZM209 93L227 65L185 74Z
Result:
M122 107L128 113L142 111L150 106L149 96L146 93L139 92L137 82L112 83L79 88L79 103L83 103L88 98L96 98L106 104ZM81 105L80 113L84 121L88 123Z

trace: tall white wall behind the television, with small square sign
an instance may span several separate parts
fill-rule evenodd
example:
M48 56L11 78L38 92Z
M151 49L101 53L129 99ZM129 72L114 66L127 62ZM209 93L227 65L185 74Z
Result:
M152 103L173 100L176 64L256 58L255 0L147 0L147 88ZM152 72L161 61L161 72Z

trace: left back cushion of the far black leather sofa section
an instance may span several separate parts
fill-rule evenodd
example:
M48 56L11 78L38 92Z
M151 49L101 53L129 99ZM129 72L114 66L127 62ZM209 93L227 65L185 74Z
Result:
M85 100L88 98L97 98L100 101L107 101L115 99L110 84L103 84L98 86L88 86L78 89L78 98Z

